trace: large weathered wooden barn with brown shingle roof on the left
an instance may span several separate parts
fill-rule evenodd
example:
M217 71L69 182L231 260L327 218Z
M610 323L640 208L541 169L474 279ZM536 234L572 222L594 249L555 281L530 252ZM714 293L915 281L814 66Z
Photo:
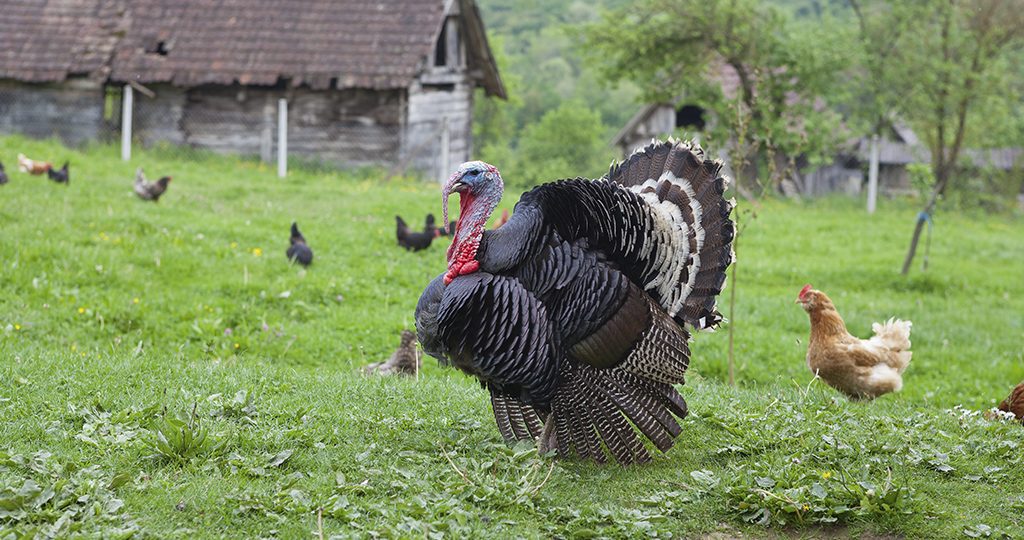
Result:
M469 159L474 89L505 97L472 0L13 0L0 17L0 132L133 134L441 175ZM68 32L74 28L74 32Z

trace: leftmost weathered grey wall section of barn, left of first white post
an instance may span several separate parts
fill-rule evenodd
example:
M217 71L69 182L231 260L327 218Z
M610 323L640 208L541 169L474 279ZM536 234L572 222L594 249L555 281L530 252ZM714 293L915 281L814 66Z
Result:
M0 81L0 133L56 136L69 144L105 140L103 86L85 79L61 84Z

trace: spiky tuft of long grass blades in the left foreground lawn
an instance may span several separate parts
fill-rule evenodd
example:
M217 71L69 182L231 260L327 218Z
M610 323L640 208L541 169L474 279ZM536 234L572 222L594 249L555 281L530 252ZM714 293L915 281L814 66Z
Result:
M146 446L153 456L179 465L191 461L205 461L221 452L227 444L226 437L211 434L196 414L193 406L190 415L182 418L169 416L166 411L160 419L150 425Z

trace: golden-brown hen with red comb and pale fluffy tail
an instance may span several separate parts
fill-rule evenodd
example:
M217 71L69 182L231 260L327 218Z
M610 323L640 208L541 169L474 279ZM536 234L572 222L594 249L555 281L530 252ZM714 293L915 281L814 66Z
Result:
M797 298L811 318L807 365L811 373L853 400L871 400L903 387L910 364L910 321L874 323L870 339L850 335L825 293L807 285Z

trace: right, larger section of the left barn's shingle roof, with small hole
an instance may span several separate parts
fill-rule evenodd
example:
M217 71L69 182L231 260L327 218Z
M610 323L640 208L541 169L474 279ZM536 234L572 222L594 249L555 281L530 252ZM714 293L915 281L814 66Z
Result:
M408 86L443 0L131 0L112 78L140 83ZM167 55L155 52L164 42ZM150 49L154 52L147 52Z

